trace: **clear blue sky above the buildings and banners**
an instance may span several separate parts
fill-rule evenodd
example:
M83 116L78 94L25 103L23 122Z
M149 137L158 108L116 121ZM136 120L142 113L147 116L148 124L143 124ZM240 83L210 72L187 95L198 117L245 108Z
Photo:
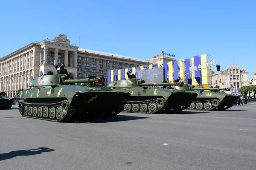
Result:
M177 60L210 54L226 70L256 72L254 0L3 1L0 57L64 33L71 44L147 60L165 51ZM216 66L212 67L216 71Z

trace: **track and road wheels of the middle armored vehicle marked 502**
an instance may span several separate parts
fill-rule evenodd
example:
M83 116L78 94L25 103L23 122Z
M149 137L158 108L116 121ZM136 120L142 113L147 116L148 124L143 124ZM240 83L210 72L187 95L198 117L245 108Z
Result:
M154 111L154 112L150 112L149 111L149 109L148 109L148 105L150 104L150 103L155 103L156 105L157 105L157 101L158 100L163 100L163 106L161 106L161 107L158 107L157 106L157 109ZM144 114L157 114L157 113L160 113L161 111L163 111L163 109L164 108L166 108L166 106L167 106L167 102L165 101L165 99L163 99L163 98L156 98L156 99L150 99L150 100L143 100L143 101L127 101L126 102L126 104L130 104L131 105L131 108L130 108L130 111L125 111L124 110L124 108L122 108L123 109L123 113L144 113ZM125 104L125 105L126 105ZM138 104L139 105L139 110L138 111L133 111L132 110L132 104ZM146 111L141 111L140 110L140 105L141 104L147 104L147 109L146 109ZM124 105L124 106L125 106Z

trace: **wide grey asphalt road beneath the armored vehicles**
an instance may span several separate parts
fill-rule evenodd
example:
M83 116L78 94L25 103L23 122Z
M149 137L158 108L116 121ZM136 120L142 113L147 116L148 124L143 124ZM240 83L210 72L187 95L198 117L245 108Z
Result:
M255 170L256 103L55 123L0 110L1 170Z

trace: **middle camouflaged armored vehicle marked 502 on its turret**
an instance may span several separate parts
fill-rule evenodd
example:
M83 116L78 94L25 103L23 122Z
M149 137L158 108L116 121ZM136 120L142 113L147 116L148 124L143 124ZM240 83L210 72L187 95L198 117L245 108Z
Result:
M172 113L187 108L197 96L195 92L166 89L166 86L182 86L177 83L145 83L142 79L125 79L110 82L108 88L112 91L129 92L123 112L126 113ZM163 88L152 87L163 86Z

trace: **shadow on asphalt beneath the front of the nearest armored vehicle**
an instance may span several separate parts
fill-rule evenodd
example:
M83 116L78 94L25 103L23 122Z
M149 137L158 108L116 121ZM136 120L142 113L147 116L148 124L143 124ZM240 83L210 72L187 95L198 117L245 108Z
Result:
M76 116L74 118L71 118L70 123L108 123L108 122L122 122L122 121L137 120L137 119L148 119L148 117L116 115L110 119L84 119L82 116Z

